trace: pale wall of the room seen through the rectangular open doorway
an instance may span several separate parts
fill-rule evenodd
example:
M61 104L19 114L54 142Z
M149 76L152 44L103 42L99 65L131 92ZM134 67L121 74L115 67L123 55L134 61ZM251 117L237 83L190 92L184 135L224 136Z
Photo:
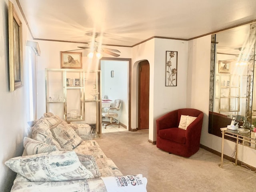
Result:
M128 126L128 61L102 60L102 96L107 95L110 100L121 99L122 104L118 113L120 122ZM114 70L114 77L110 72Z

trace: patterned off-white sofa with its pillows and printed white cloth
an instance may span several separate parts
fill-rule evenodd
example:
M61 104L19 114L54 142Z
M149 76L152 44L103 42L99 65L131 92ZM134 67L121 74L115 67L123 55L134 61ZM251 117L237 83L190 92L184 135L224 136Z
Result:
M52 113L31 122L24 152L5 164L17 172L11 192L146 192L141 174L123 176L90 126L68 124Z

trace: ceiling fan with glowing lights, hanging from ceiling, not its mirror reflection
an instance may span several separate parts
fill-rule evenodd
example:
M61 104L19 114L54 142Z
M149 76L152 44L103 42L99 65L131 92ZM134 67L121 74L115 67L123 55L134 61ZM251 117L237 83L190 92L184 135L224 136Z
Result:
M75 50L82 50L82 49L92 49L93 50L88 54L88 57L93 57L94 55L94 52L96 52L96 56L98 58L101 58L102 57L102 54L101 52L104 52L106 54L109 54L109 55L112 55L114 57L119 57L120 54L117 54L117 53L120 53L119 50L116 50L116 49L110 49L110 48L99 48L100 46L100 43L96 41L96 38L98 37L98 33L92 33L92 32L89 32L89 33L86 33L86 35L89 35L89 36L94 36L94 42L87 42L88 44L88 47L78 47L80 49L75 49ZM75 50L69 50L69 51L75 51ZM115 53L117 52L117 53Z

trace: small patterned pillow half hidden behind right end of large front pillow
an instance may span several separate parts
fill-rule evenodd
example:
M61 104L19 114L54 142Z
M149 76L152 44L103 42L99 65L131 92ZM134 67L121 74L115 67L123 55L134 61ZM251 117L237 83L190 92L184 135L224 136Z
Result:
M77 154L79 161L85 166L86 169L90 170L94 175L94 178L100 178L100 170L92 155L88 154Z

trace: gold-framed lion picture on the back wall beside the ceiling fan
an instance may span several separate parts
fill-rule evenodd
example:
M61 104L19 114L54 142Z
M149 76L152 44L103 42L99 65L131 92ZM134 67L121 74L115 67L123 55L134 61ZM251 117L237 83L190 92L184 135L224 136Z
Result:
M82 52L60 52L62 69L82 69Z

